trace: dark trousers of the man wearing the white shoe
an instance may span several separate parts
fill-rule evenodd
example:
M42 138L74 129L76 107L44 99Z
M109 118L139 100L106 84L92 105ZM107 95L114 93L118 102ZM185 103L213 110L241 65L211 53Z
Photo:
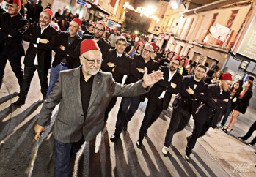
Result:
M191 114L185 110L183 110L183 112L173 110L172 118L169 121L169 127L167 129L167 134L165 135L164 146L171 146L173 135L186 127L186 124L189 123L190 116Z

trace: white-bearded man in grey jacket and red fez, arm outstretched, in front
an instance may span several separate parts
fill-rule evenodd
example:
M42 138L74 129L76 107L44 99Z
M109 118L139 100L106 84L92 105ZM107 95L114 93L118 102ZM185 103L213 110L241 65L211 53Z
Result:
M34 127L34 140L38 140L59 104L53 130L56 177L67 177L70 156L76 155L84 141L89 142L103 130L104 113L112 97L145 94L149 86L163 77L161 71L148 75L145 69L142 80L122 86L109 72L100 71L102 54L95 40L82 41L80 53L81 66L59 73L54 91L43 104Z

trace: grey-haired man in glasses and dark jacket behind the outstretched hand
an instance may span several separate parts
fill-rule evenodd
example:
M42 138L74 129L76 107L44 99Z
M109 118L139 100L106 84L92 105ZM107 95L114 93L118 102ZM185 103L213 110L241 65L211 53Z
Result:
M148 73L158 70L158 63L151 59L153 53L153 47L150 44L146 44L143 49L142 55L134 55L134 59L131 62L130 72L125 80L125 84L135 83L141 80L145 67L147 67ZM116 142L120 138L122 129L127 130L127 124L134 116L134 113L139 108L139 103L145 101L146 95L137 97L125 97L122 98L120 108L117 113L116 129L110 140Z

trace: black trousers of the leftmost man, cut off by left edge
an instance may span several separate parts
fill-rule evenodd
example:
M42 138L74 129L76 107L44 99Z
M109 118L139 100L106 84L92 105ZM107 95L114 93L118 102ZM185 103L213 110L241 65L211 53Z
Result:
M3 82L4 78L4 68L7 64L7 60L9 60L10 65L12 67L12 71L15 73L16 78L18 79L18 84L21 86L23 82L23 70L21 67L21 56L17 58L13 58L12 56L6 55L4 52L0 53L0 83Z

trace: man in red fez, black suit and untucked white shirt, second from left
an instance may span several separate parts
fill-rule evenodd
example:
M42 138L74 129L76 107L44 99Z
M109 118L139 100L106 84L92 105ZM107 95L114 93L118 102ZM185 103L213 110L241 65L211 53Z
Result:
M29 92L30 83L36 70L40 79L43 100L46 97L48 69L51 68L51 52L54 49L57 37L57 31L49 25L53 15L52 10L43 10L40 13L40 24L34 23L23 34L23 39L30 42L30 44L24 59L25 69L22 90L19 99L13 103L15 106L25 104L26 95Z

